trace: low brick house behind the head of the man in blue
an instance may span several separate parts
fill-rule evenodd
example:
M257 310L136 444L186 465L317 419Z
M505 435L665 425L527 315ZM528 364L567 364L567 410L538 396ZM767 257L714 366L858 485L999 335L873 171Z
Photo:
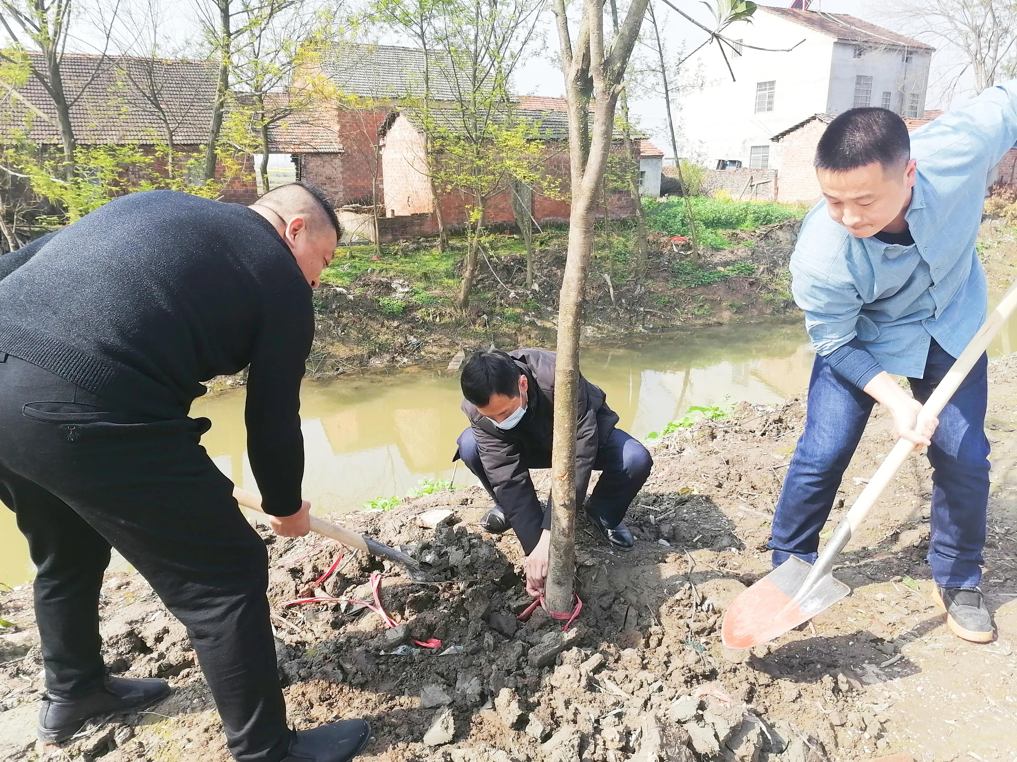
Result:
M942 115L942 111L926 111L921 117L907 117L904 124L908 132L929 124ZM816 146L823 131L833 121L830 114L814 114L773 136L781 148L781 168L777 182L777 200L783 203L815 203L822 195L816 169ZM993 169L986 180L992 185L1017 184L1017 148L1012 148Z

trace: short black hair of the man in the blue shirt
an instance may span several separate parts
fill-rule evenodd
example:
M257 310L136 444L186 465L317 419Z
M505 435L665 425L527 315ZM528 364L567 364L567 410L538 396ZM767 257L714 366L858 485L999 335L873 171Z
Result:
M847 172L879 162L906 164L911 137L904 120L887 109L851 109L830 122L816 146L816 169Z

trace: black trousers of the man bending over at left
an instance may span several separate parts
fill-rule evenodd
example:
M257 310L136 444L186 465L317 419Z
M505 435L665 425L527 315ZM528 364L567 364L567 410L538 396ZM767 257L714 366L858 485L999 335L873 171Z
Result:
M207 419L117 409L17 358L0 361L0 500L39 568L47 691L68 699L103 685L99 593L112 546L187 628L233 756L285 758L267 554L199 443Z

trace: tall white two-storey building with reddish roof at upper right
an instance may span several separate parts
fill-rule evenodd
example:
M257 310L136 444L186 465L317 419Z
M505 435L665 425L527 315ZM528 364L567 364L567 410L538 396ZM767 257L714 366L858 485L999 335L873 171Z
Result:
M717 43L686 64L697 86L682 108L686 155L710 169L780 169L771 138L814 114L877 106L925 108L934 49L854 16L759 6L725 31L735 81ZM787 53L754 50L793 48Z

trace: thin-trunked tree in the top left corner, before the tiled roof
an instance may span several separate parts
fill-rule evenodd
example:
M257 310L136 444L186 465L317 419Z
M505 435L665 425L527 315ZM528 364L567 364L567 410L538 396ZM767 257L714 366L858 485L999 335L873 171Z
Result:
M60 175L65 180L74 176L74 153L77 149L70 110L108 65L106 53L111 28L107 26L104 30L104 47L91 64L91 75L75 88L68 89L61 66L75 10L74 0L52 0L49 3L39 0L0 1L0 24L3 24L12 44L11 49L0 52L0 59L27 66L31 75L53 99L64 154ZM37 49L38 53L28 54L31 48Z

